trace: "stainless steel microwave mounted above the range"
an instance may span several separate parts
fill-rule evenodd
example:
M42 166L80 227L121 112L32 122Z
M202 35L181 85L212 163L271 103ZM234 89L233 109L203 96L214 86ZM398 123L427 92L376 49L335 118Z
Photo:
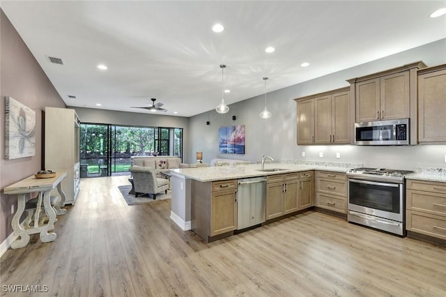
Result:
M409 119L355 123L359 146L403 146L409 144Z

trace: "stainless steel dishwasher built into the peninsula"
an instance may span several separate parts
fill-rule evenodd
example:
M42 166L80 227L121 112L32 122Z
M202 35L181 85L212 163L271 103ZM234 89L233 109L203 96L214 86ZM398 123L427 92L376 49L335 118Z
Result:
M264 176L238 180L237 229L265 222L266 178Z

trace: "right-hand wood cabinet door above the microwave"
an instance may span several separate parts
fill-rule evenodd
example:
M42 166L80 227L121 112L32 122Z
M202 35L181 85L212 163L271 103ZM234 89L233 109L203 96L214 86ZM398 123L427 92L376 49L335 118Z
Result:
M380 119L410 117L409 72L394 73L380 78Z

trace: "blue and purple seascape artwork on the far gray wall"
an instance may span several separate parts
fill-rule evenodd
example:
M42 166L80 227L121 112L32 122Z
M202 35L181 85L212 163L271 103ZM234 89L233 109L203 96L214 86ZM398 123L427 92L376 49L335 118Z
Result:
M219 152L245 154L245 125L232 125L218 130Z

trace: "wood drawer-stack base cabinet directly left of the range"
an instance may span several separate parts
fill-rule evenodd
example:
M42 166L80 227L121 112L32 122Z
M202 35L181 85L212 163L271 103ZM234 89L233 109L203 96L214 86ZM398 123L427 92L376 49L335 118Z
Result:
M347 176L339 172L316 172L316 206L347 213Z

